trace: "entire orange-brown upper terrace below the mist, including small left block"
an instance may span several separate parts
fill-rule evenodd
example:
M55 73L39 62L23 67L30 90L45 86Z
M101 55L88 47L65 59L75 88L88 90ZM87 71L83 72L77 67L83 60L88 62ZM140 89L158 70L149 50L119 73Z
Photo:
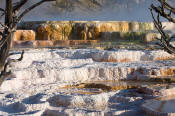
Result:
M164 25L171 25L164 22ZM170 28L171 27L171 28ZM168 26L171 30L175 26ZM89 44L95 41L142 41L151 42L160 35L151 22L119 22L119 21L47 21L22 22L12 42L13 47L48 47L71 45L76 42ZM35 42L37 41L37 42ZM56 41L56 42L55 42ZM83 42L82 42L83 41ZM36 44L38 43L38 44ZM44 43L44 44L42 44ZM76 45L77 45L76 44ZM74 44L73 44L74 45Z

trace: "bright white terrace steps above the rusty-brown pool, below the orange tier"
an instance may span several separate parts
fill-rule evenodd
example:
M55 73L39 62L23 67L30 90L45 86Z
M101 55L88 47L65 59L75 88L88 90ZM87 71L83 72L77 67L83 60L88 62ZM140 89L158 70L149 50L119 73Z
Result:
M19 55L13 57L17 58ZM95 80L173 78L173 58L173 55L164 51L29 50L22 62L12 64L11 76L16 78L4 81L1 88L4 91L16 90L31 84L57 81L80 83Z

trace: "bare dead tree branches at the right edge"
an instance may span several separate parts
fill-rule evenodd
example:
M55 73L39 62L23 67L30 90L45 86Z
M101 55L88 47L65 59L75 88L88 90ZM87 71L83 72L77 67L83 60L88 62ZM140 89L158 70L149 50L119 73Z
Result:
M154 4L151 4L151 15L153 18L154 25L158 32L161 35L161 38L157 38L160 40L160 46L167 51L168 53L175 54L175 47L171 44L171 41L175 38L175 36L169 36L164 31L164 26L162 25L162 22L160 21L160 17L163 17L167 19L169 22L175 23L175 7L170 5L167 0L157 0L159 5L155 6ZM157 14L155 17L154 14Z

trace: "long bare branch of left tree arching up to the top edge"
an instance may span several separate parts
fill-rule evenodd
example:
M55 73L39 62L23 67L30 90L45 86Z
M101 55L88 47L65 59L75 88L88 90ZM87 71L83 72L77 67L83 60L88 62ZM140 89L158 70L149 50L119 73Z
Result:
M40 2L38 2L34 5L32 5L31 7L25 9L24 12L22 12L21 15L18 17L18 22L21 21L21 19L24 17L24 15L26 15L28 12L30 12L31 10L33 10L37 6L41 5L44 2L51 2L51 1L55 1L55 0L41 0Z

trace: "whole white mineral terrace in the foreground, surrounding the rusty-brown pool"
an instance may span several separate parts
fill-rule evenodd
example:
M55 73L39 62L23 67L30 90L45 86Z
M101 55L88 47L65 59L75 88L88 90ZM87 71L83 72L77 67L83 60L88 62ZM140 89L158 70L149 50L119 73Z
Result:
M20 57L19 52L11 58ZM31 49L10 66L0 88L0 114L34 116L142 116L134 90L78 94L63 88L91 81L147 80L175 75L173 55L164 51ZM74 93L75 92L75 93Z

